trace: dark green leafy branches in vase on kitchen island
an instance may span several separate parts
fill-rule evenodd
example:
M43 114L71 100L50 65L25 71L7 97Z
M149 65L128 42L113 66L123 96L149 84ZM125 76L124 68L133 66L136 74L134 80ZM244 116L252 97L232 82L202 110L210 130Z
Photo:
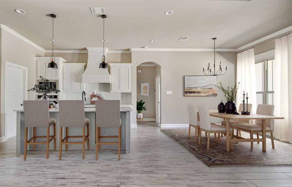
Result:
M35 91L36 93L41 93L43 96L41 97L41 100L48 100L48 93L59 93L60 90L55 89L54 87L49 86L49 79L45 79L44 77L40 76L40 79L42 80L42 84L35 84L35 86L27 91Z

